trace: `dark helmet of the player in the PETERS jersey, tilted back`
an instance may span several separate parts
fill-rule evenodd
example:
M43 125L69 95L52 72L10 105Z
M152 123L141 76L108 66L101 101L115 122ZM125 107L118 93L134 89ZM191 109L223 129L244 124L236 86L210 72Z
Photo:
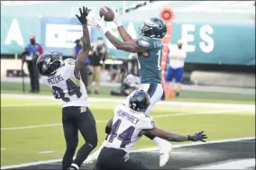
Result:
M41 76L54 75L62 65L62 54L57 51L44 53L36 60L36 68Z

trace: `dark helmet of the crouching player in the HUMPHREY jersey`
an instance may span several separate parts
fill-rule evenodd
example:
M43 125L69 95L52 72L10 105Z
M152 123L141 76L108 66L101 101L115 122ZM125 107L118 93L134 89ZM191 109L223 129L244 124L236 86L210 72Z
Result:
M151 96L143 90L136 91L129 101L129 107L136 112L146 112L150 104Z

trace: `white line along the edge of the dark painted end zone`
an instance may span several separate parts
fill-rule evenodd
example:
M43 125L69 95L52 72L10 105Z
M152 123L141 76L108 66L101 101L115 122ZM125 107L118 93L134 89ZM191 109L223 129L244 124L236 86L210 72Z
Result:
M240 141L240 140L246 140L246 139L255 139L255 137L246 137L246 138L240 138L240 139L222 139L222 140L213 140L213 141L209 141L206 143L198 142L198 143L191 143L191 144L184 144L184 145L174 145L173 148L183 148L183 147L198 146L198 145L233 142L233 141ZM155 151L158 149L159 148L144 148L144 149L133 150L132 153L134 153L134 152L149 152L149 151ZM42 164L56 163L61 160L62 159L51 159L51 160L47 160L47 161L30 162L30 163L14 165L14 166L1 166L1 169L11 169L11 168L26 167L26 166L38 166L38 165L42 165Z

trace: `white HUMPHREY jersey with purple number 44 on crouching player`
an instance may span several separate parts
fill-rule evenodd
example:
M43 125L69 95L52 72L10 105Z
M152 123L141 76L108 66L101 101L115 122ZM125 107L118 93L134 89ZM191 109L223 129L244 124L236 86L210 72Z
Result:
M129 107L119 105L114 109L112 131L107 138L105 147L123 149L130 152L140 139L142 130L151 130L155 121L142 112L134 112Z

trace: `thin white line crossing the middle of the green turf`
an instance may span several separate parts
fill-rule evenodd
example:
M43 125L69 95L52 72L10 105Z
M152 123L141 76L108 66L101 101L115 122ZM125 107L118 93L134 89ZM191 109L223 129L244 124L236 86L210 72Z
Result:
M226 112L243 112L249 111L248 109L233 109L233 110L221 110L221 111L211 111L211 112L191 112L191 113L174 113L174 114L162 114L162 115L155 115L153 118L168 118L168 117L177 117L177 116L192 116L192 115L204 115L204 114L223 114ZM107 122L108 120L96 121L97 123ZM36 128L43 128L43 127L55 127L60 126L61 123L53 123L53 124L41 124L41 125L33 125L33 126L21 126L21 127L10 127L10 128L1 128L1 130L24 130L24 129L36 129Z

